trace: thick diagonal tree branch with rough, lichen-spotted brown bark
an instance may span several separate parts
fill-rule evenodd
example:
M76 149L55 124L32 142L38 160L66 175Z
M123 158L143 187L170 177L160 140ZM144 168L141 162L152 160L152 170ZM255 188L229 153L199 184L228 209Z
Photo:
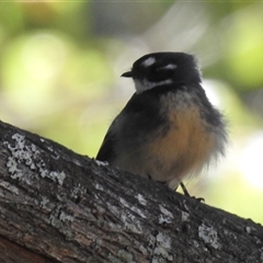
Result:
M263 262L263 228L0 123L0 262Z

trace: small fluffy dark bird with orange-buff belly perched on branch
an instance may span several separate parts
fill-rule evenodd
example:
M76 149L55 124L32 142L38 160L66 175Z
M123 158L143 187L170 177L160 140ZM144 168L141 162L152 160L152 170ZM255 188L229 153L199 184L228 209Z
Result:
M201 85L194 56L148 54L122 77L133 78L136 92L111 124L96 160L175 190L225 153L226 122Z

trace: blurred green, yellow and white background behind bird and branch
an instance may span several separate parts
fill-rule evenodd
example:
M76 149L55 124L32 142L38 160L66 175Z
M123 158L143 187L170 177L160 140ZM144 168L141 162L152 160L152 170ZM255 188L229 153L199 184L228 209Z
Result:
M1 2L0 119L94 157L134 92L119 78L134 60L194 54L230 142L187 187L263 224L262 25L262 1Z

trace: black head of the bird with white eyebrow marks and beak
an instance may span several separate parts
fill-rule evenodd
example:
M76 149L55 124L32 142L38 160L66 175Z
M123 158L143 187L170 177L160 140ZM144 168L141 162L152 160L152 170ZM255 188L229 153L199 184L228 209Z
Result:
M185 53L152 53L136 60L132 70L122 77L133 78L137 93L173 83L201 82L201 73L194 56Z

